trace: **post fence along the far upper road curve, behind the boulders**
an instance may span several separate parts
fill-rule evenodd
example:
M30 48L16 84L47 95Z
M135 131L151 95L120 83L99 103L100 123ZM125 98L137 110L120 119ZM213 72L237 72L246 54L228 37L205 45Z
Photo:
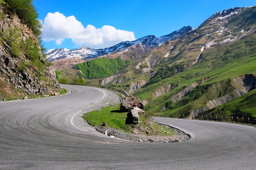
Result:
M121 88L117 88L114 86L108 86L108 85L99 85L99 84L93 84L93 83L74 83L74 82L59 82L60 84L67 84L67 85L79 85L79 86L88 86L88 87L97 87L97 88L102 88L102 89L108 89L112 90L118 93L123 94L125 97L129 96L130 94Z

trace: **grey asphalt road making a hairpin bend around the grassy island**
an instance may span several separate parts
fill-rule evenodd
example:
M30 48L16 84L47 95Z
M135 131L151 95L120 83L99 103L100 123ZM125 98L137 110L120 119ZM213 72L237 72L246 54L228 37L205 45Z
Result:
M0 169L256 169L254 127L156 117L193 137L178 143L118 140L80 118L118 102L117 94L62 86L72 93L0 102Z

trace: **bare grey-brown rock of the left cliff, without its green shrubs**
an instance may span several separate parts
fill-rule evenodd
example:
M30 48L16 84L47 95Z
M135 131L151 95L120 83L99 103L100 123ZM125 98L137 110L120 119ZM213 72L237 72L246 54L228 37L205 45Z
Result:
M32 39L38 45L38 39L33 35L33 31L18 16L11 12L6 6L0 3L0 11L3 16L0 19L0 30L8 33L12 28L18 28L22 40ZM5 15L4 15L5 14ZM38 62L45 68L38 69L34 67L28 57L24 54L11 55L10 46L3 39L0 39L0 81L6 86L21 90L25 95L30 94L46 94L59 90L60 86L56 80L55 70L48 67L43 57L39 57ZM24 65L23 63L28 63ZM20 69L22 67L22 69ZM42 71L43 70L43 71ZM11 95L11 94L10 94ZM1 100L1 98L0 98Z

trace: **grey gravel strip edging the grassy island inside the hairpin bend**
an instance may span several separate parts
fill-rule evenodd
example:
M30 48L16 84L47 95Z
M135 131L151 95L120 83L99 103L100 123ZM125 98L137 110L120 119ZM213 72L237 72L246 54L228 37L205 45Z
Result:
M167 125L162 125L164 127L167 127L169 129L172 129L176 132L173 136L146 136L144 134L138 133L136 131L136 134L127 134L123 131L113 129L108 126L94 126L94 128L100 132L105 134L105 131L107 131L108 136L114 136L115 138L120 138L123 140L129 140L129 141L135 141L135 142L151 142L151 143L172 143L172 142L182 142L189 139L189 136L185 134L184 132L171 128Z

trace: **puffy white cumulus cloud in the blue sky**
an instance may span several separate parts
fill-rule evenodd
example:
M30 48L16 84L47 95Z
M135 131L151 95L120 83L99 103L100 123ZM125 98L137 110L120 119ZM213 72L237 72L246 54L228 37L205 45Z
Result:
M130 31L117 30L110 25L101 28L87 25L85 28L74 16L65 17L59 12L49 12L44 18L44 41L55 41L57 45L61 45L69 38L75 45L94 49L110 47L121 41L135 40L134 33Z

